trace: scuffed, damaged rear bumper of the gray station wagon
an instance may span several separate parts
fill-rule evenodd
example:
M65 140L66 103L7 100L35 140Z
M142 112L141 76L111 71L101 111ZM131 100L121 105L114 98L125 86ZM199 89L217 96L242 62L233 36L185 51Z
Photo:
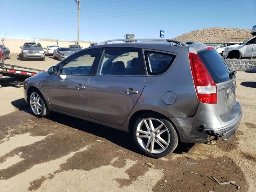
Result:
M214 136L216 139L230 140L239 127L242 118L240 104L236 101L234 106L236 109L233 110L234 113L230 114L234 118L228 122L223 122L220 116L213 115L214 113L207 110L207 108L202 110L206 105L200 104L194 117L170 118L178 130L181 142L206 143L210 136ZM209 114L206 114L208 112Z

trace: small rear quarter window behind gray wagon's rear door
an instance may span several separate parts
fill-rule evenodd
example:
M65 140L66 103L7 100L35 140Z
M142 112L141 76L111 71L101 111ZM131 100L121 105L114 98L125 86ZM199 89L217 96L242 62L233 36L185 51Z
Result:
M176 58L173 54L162 52L145 51L144 54L147 71L150 75L159 75L166 72Z

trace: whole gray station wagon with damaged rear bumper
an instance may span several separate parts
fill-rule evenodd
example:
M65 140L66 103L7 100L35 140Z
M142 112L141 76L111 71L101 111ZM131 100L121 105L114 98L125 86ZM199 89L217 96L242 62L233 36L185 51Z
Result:
M165 39L109 40L25 80L37 117L60 112L130 132L160 158L178 142L230 139L240 124L236 72L212 47Z

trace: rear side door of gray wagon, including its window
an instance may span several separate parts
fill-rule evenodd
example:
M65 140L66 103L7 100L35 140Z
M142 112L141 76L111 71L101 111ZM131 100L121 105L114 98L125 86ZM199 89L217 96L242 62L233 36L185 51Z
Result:
M140 49L105 48L88 83L89 117L121 125L146 82Z

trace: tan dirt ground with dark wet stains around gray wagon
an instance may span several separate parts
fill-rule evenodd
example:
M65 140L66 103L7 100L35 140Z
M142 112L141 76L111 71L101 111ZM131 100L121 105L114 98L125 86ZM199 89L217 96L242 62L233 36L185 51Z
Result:
M13 57L8 62L47 70L58 61ZM23 99L22 86L10 86L12 80L0 79L1 192L256 191L255 73L237 73L236 97L243 117L229 142L218 140L212 147L179 144L160 159L141 155L125 132L54 112L36 118ZM196 164L184 164L191 162ZM235 181L241 189L219 185L208 176Z

